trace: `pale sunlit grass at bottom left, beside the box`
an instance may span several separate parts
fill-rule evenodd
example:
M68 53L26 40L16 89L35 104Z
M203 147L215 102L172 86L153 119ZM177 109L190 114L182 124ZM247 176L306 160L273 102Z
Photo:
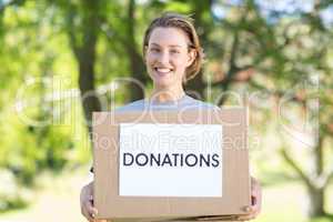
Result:
M82 170L57 176L46 173L38 179L32 204L0 214L0 222L83 222L79 194L84 180Z

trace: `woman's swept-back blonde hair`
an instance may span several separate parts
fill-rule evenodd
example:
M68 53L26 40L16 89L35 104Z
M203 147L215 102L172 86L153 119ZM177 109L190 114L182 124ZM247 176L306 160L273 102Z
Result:
M195 59L190 67L186 68L184 80L188 81L193 79L200 71L202 62L203 62L203 50L200 46L199 37L193 26L193 19L186 16L182 16L179 13L168 12L163 16L154 19L148 29L145 30L143 38L143 57L145 57L145 49L149 44L149 39L152 31L155 28L178 28L182 30L190 40L189 50L195 51Z

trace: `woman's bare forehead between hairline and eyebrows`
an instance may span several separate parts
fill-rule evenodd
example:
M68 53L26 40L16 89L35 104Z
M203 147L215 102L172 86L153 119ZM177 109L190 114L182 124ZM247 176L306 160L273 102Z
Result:
M153 29L150 34L149 44L159 44L161 47L180 46L186 47L190 40L185 32L178 28L162 28Z

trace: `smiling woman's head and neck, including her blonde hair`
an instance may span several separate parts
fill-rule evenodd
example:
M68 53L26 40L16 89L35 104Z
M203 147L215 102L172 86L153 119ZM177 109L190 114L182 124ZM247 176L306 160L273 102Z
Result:
M200 71L203 56L191 20L178 14L151 23L144 34L143 53L154 83L153 94L160 93L161 100L184 95L182 83Z

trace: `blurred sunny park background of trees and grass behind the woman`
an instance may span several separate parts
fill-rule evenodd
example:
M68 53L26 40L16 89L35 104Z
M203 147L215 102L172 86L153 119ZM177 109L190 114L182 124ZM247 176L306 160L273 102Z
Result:
M0 222L84 221L91 112L149 94L142 37L164 11L204 48L188 93L249 108L254 221L333 221L332 0L0 0Z

